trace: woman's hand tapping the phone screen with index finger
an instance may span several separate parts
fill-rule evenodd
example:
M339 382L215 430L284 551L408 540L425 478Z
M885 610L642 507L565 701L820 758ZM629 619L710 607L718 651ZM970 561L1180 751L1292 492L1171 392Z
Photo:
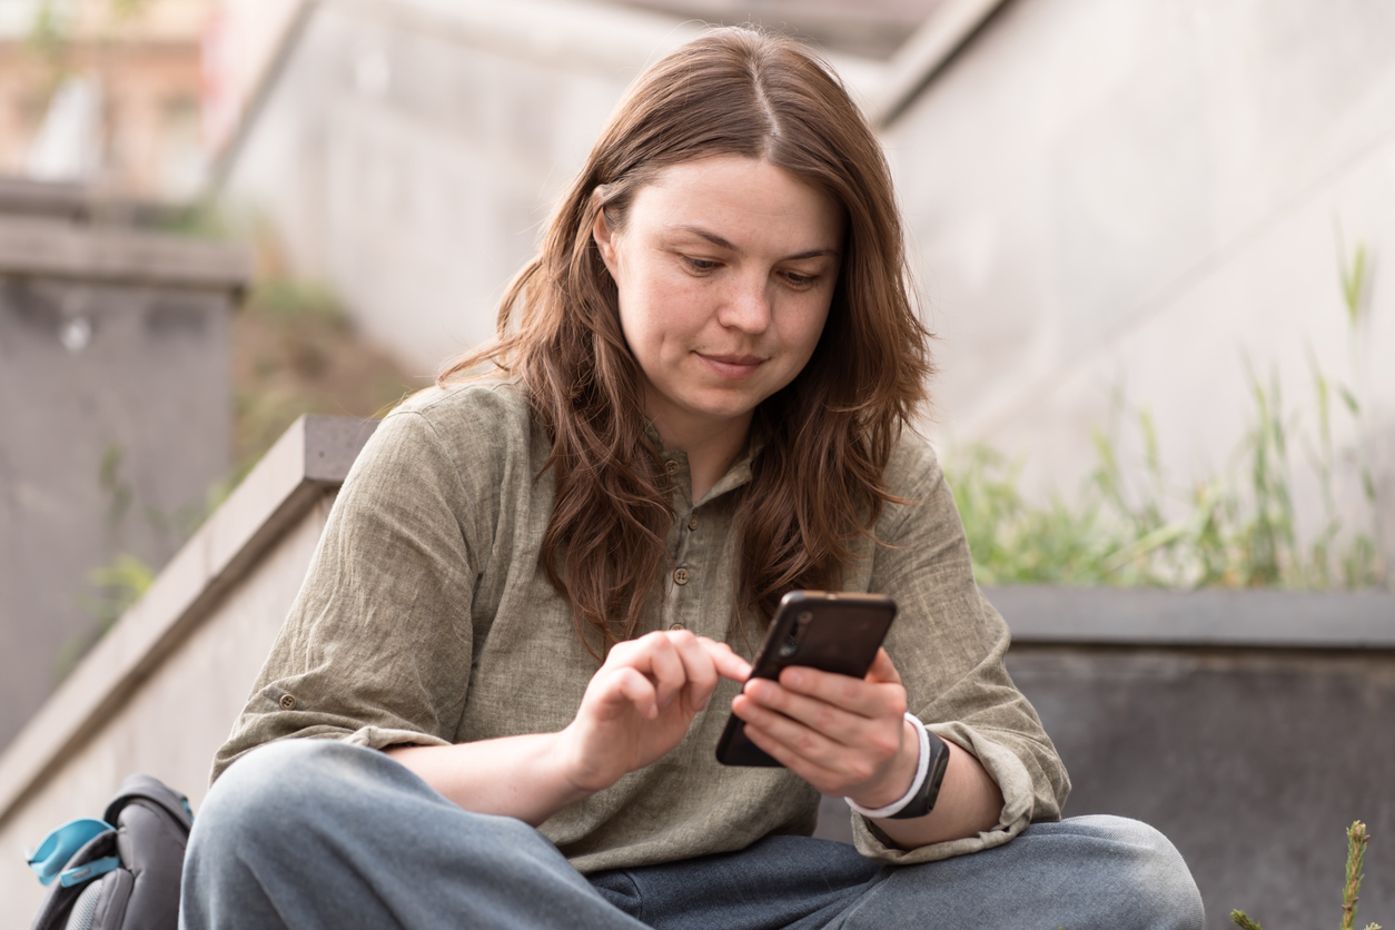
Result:
M576 719L558 736L559 761L578 791L610 788L682 742L721 678L744 682L751 665L688 630L615 644L591 676Z

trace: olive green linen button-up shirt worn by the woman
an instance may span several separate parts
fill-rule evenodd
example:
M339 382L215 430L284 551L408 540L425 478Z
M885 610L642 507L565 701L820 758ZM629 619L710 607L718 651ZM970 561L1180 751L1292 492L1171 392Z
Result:
M554 501L551 471L540 474L550 446L518 383L434 389L391 413L345 481L213 778L276 739L384 749L566 726L598 662L540 569ZM674 475L677 519L663 612L650 629L682 625L749 660L762 625L732 619L732 516L751 460L737 462L693 502L686 455L663 457ZM883 545L857 542L844 588L896 598L886 648L911 711L974 753L1004 800L993 830L910 851L854 814L862 855L918 863L996 846L1032 820L1059 818L1070 782L1003 668L1007 626L974 583L958 513L929 445L907 432L886 480L910 502L889 505L877 520ZM723 680L672 752L559 810L541 832L582 871L810 834L819 796L808 782L784 768L716 760L738 687Z

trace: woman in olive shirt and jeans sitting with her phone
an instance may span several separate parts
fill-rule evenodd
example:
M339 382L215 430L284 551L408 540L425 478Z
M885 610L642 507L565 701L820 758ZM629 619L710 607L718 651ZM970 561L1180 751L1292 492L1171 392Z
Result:
M1156 832L1049 823L1066 772L905 429L926 342L826 66L718 29L650 68L498 342L346 481L215 761L186 926L1198 927ZM897 598L865 680L742 687L791 588ZM728 711L785 767L720 765ZM820 793L855 849L808 838Z

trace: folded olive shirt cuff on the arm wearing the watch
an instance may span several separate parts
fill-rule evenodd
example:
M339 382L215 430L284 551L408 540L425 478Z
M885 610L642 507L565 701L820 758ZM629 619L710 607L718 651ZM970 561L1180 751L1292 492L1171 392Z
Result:
M976 837L964 839L947 839L944 842L918 846L915 849L901 849L882 834L876 825L861 814L852 814L852 841L858 852L873 862L893 866L914 866L922 862L939 862L982 849L1002 846L1004 842L1023 832L1032 818L1032 779L1027 765L1016 753L992 742L988 736L972 726L960 722L935 724L929 731L940 739L950 740L956 746L972 753L989 777L997 782L1003 792L1003 811L997 817L997 824Z

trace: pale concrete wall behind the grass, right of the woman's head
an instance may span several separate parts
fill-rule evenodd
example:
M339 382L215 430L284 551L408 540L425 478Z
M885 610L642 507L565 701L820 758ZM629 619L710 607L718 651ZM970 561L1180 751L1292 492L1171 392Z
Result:
M1395 8L1360 0L1003 6L883 135L942 336L940 436L1070 491L1117 390L1186 488L1253 421L1246 353L1315 438L1309 351L1355 381L1341 227L1375 261L1359 356L1395 544L1391 47Z

